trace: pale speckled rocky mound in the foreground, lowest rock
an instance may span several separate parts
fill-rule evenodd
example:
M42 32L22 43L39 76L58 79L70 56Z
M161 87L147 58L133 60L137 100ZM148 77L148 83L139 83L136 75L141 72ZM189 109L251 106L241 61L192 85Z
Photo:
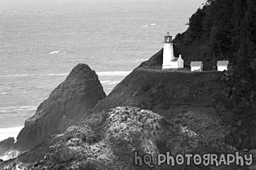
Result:
M154 169L167 169L168 165L157 166L158 153L233 153L235 149L224 143L209 146L201 136L186 127L176 125L150 110L135 107L117 107L103 114L98 123L72 125L64 134L50 140L50 146L39 161L29 161L32 155L22 154L14 161L2 165L19 165L30 169L149 169L147 165L134 165L134 153L152 155ZM35 147L36 150L39 147ZM32 153L32 152L30 152ZM20 161L23 160L23 163ZM26 162L24 163L24 160ZM23 166L22 166L23 165ZM248 169L234 165L213 168L202 165L176 165L172 169Z

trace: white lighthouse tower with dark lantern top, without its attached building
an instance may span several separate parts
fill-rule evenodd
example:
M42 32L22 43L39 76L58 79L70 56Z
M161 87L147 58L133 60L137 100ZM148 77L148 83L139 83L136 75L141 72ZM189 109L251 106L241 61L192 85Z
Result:
M162 69L171 68L171 60L174 58L172 36L169 32L165 35Z

